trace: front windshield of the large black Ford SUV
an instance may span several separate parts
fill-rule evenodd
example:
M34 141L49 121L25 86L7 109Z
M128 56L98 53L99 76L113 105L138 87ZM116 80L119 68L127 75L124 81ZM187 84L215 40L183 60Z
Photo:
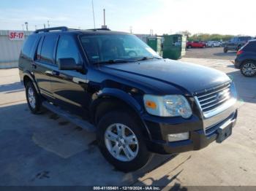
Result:
M161 58L137 36L130 34L83 35L80 42L91 63Z

